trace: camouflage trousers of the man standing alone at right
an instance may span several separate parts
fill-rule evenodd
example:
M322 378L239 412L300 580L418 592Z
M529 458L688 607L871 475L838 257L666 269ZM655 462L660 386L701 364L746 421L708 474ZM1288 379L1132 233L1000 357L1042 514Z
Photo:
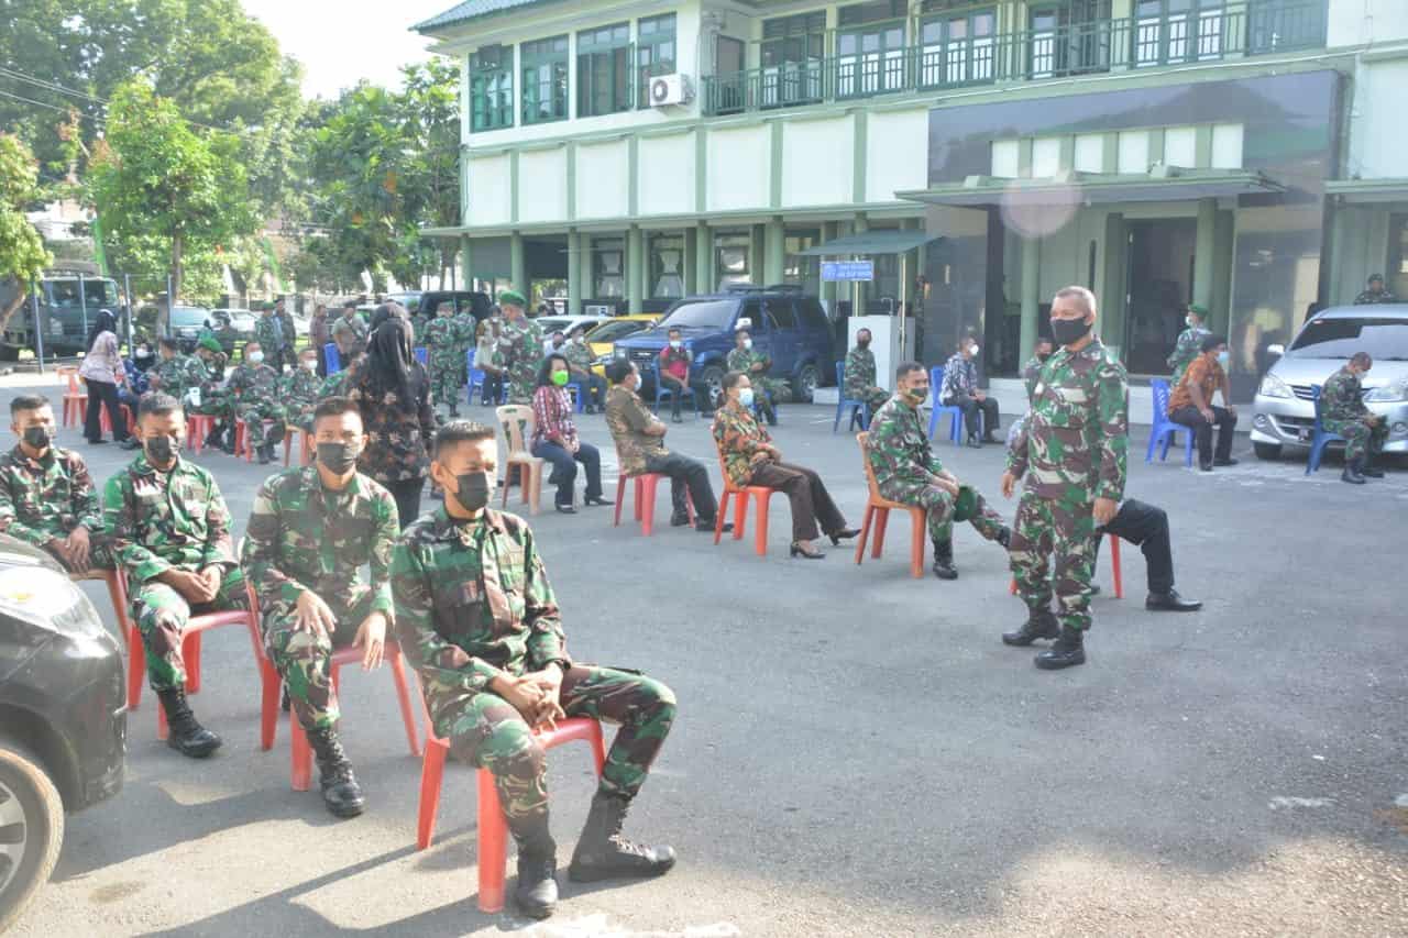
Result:
M1062 625L1090 628L1090 577L1095 572L1095 517L1088 501L1022 493L1008 546L1017 592L1031 613L1050 608ZM1055 561L1055 570L1050 562Z

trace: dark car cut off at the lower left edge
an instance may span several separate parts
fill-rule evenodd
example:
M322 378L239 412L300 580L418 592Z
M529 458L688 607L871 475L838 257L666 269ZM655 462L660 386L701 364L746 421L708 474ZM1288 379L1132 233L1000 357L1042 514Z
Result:
M49 879L63 815L122 787L122 648L46 554L0 534L0 932Z

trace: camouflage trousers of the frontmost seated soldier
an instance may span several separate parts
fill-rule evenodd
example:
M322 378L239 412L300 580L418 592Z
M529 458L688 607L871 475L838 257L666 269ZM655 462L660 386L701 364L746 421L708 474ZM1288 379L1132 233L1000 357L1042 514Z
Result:
M511 830L548 813L543 749L513 704L489 692L431 692L425 703L451 752L494 773ZM576 665L562 679L559 703L569 717L621 725L598 790L634 797L674 723L674 693L643 675Z

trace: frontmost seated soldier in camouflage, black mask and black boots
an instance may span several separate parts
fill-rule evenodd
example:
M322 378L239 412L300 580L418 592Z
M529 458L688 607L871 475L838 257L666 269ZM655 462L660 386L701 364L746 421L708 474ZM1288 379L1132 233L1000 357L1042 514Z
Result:
M532 727L563 715L621 724L569 875L577 882L655 876L674 865L674 851L632 844L621 827L676 704L669 687L638 672L567 655L532 531L522 518L486 507L496 462L491 428L455 421L439 430L431 475L445 504L396 545L396 635L420 673L435 734L458 758L493 772L518 842L514 899L542 918L558 899L556 845L545 753Z

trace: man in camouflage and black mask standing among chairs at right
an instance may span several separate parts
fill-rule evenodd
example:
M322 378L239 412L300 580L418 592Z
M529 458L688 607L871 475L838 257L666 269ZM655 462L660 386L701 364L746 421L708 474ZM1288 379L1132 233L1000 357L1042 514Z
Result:
M1036 666L1048 670L1086 663L1095 528L1111 523L1125 493L1129 382L1124 365L1091 332L1094 324L1090 290L1070 286L1056 293L1052 335L1060 348L1042 368L1025 434L1002 473L1005 497L1026 479L1008 552L1028 610L1026 623L1002 641L1055 638L1036 656Z

